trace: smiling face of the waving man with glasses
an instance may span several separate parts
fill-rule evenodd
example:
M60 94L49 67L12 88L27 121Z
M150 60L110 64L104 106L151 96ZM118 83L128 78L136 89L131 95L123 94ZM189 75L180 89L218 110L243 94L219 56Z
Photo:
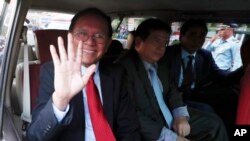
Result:
M83 42L82 64L86 67L97 63L111 42L107 22L98 15L80 17L72 30L74 46Z

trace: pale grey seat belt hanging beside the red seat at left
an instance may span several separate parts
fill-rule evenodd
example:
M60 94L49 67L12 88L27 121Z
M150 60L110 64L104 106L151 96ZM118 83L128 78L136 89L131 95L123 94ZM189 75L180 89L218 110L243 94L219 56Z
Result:
M27 27L24 27L27 28ZM25 29L23 29L25 30ZM27 29L26 29L27 31ZM26 33L23 32L23 112L21 119L26 122L31 122L31 103L30 103L30 76L29 76L29 54L28 54L28 44L26 39Z

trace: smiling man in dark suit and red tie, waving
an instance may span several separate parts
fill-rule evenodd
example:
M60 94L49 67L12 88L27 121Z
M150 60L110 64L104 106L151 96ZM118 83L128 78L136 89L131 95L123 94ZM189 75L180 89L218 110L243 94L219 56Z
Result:
M100 60L111 35L110 18L88 8L71 21L67 52L60 37L59 55L50 47L54 66L50 62L41 69L37 106L27 131L30 141L140 140L123 71Z

